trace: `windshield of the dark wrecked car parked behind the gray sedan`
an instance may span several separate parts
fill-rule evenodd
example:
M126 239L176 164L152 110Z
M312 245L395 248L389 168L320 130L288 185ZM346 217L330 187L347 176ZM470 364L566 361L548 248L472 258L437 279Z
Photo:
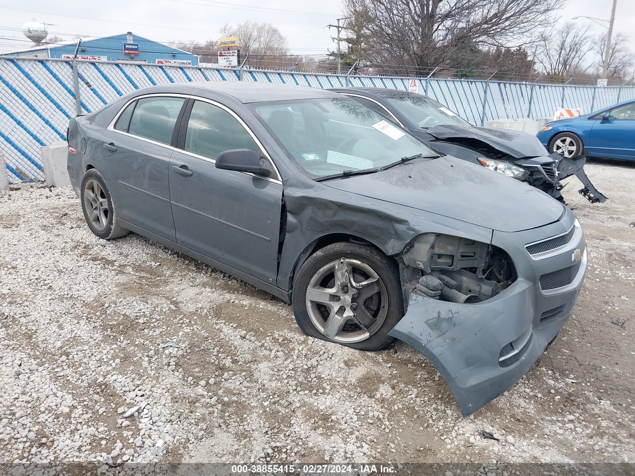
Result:
M406 116L408 121L417 124L419 128L433 128L434 126L471 126L471 124L455 112L438 102L422 95L404 93L383 96L394 109Z

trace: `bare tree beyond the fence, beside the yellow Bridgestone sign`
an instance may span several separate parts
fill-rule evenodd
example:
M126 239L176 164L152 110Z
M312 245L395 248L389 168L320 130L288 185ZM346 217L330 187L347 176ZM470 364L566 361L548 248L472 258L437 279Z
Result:
M249 53L251 66L288 67L294 61L289 57L286 37L271 23L243 22L236 26L225 23L220 34L238 37L241 56Z

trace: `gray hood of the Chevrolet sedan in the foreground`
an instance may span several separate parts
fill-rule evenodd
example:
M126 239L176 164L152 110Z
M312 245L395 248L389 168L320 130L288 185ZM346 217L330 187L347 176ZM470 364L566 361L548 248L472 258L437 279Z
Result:
M563 205L537 188L450 155L323 183L502 232L540 227L563 215Z

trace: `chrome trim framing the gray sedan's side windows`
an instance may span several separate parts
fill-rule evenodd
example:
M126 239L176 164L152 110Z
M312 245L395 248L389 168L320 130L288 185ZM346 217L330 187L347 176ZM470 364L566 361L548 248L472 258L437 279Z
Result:
M256 175L256 174L253 174L253 173L250 173L250 172L241 172L241 173L244 173L246 175L251 175L251 176L254 176L254 177L258 177L258 178L262 178L264 180L269 180L269 182L282 184L282 176L280 175L280 173L279 173L279 171L278 171L278 169L276 167L276 164L274 163L273 159L271 158L271 155L269 155L269 152L267 152L267 149L265 149L264 145L262 145L262 142L260 142L260 140L258 140L257 136L253 133L251 128L243 121L243 119L241 119L240 116L238 116L238 114L236 114L236 112L234 112L233 110L229 109L229 107L227 107L224 104L221 104L221 103L219 103L217 101L208 99L208 98L202 98L201 96L194 96L194 95L189 95L189 94L178 94L178 93L152 93L152 94L146 94L146 95L137 96L135 98L131 98L128 102L126 102L121 107L121 109L119 110L119 112L117 112L117 114L114 117L114 119L112 119L112 121L110 121L110 124L109 124L109 126L106 129L109 130L109 131L112 131L112 132L116 132L116 133L123 134L123 135L126 135L126 136L134 137L135 139L143 140L144 142L149 142L149 143L152 143L152 144L155 144L155 145L161 145L162 147L166 147L166 149L170 149L170 150L173 150L173 151L174 150L178 150L178 152L182 152L183 154L191 155L192 157L196 157L197 159L203 159L204 161L208 161L208 162L211 162L212 164L215 164L216 163L215 159L210 159L210 157L203 157L203 155L194 154L193 152L189 152L189 151L187 151L185 149L178 149L177 147L172 147L170 144L166 144L166 143L163 143L163 142L156 142L155 140L146 139L145 137L140 137L140 136L137 136L137 135L134 135L134 134L130 134L128 132L119 131L119 130L114 128L114 125L116 124L117 119L119 119L119 116L121 116L121 114L124 112L124 110L126 110L126 107L128 107L128 105L130 105L131 102L137 101L139 99L151 98L151 97L194 99L195 101L201 101L201 102L210 103L211 105L220 107L220 109L224 110L225 112L228 112L229 114L231 114L232 117L234 117L234 119L236 119L236 121L238 121L238 123L241 126L243 126L245 131L247 131L247 133L251 136L251 138L256 143L256 145L260 148L260 152L262 152L265 155L265 157L267 157L267 160L271 164L271 167L272 167L274 173L276 174L276 178L265 177L265 176L262 176L262 175Z

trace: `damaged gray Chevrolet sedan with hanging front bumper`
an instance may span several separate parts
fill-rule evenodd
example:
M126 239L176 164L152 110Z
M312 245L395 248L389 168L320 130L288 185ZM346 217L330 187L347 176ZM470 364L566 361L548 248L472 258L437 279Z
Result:
M309 336L406 341L465 415L530 369L584 279L561 202L330 91L154 86L71 119L68 137L95 235L136 232L264 289Z

